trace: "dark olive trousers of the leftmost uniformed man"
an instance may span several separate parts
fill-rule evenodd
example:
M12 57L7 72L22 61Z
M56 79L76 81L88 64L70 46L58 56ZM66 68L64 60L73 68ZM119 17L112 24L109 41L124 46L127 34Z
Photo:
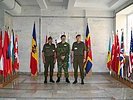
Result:
M54 57L53 56L46 56L45 57L46 63L44 64L44 76L48 76L48 68L50 66L50 77L53 77L54 71Z

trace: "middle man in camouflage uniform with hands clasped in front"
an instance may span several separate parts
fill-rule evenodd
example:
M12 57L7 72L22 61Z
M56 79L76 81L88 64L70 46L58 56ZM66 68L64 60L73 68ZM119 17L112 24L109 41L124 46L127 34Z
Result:
M68 77L68 61L69 61L70 45L66 42L66 35L61 36L61 42L57 44L57 83L60 82L62 69L64 69L64 74L66 77L66 82L70 83Z

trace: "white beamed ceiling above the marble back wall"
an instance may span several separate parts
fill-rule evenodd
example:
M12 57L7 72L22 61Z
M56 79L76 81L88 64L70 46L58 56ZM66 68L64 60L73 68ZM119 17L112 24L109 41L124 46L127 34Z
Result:
M128 0L16 0L23 6L40 6L41 9L65 7L66 9L115 10ZM42 4L44 3L44 5ZM46 6L46 7L43 7Z

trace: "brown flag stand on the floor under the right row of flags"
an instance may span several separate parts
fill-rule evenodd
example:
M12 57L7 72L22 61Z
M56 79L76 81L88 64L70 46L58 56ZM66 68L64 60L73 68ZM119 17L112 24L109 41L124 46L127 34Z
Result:
M121 83L123 83L123 84L125 84L126 86L128 86L128 87L130 87L130 88L133 89L133 82L127 80L126 78L122 78L122 77L118 76L118 75L117 75L116 73L114 73L113 71L112 71L112 73L111 73L111 76L112 76L114 79L120 81Z

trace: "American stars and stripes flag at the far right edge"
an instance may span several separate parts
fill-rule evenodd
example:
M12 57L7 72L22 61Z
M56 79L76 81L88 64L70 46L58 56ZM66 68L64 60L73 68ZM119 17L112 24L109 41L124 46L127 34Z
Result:
M133 34L132 34L132 30L131 30L128 77L131 76L131 74L133 72L132 70L133 70Z

